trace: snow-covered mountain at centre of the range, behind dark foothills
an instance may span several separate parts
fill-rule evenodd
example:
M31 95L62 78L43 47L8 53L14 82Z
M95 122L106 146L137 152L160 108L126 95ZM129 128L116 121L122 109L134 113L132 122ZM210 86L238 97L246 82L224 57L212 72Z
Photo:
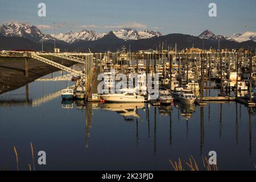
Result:
M113 33L119 39L123 39L123 40L148 39L148 38L152 38L153 36L162 36L162 34L158 31L154 31L154 30L137 31L131 28L121 28L117 31L113 31Z

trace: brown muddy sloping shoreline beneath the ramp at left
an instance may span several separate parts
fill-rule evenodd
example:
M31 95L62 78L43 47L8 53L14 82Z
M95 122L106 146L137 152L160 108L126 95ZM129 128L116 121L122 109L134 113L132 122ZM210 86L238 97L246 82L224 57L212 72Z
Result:
M74 61L61 59L58 57L44 56L56 63L70 67L76 64ZM28 59L28 77L25 76L25 59L0 59L0 94L18 89L37 78L59 71L53 67L35 59Z

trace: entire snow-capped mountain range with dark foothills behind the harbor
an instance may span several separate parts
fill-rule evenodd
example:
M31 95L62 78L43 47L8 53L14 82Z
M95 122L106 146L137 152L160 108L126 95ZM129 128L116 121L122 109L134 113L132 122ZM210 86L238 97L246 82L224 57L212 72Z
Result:
M220 40L221 48L256 48L256 32L243 32L232 36L215 35L205 30L199 36L184 34L163 35L154 30L133 30L121 28L108 33L82 30L80 32L68 31L65 34L42 34L38 27L24 23L7 23L0 26L0 50L32 48L40 50L43 36L44 49L52 51L53 41L62 51L86 51L90 48L94 52L116 51L122 46L130 46L131 50L156 49L159 43L167 43L172 47L177 43L178 49L195 47L217 48ZM203 41L204 40L204 43ZM13 44L15 43L15 44Z

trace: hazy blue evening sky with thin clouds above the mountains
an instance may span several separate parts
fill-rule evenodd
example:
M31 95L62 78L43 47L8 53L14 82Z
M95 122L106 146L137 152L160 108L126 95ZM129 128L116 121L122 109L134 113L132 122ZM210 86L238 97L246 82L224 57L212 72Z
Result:
M46 4L46 17L38 16L38 4ZM210 17L209 3L216 3L217 17ZM256 32L255 0L0 0L0 24L18 22L53 34L69 30L109 32L130 27L162 34L198 36L204 30L216 35Z

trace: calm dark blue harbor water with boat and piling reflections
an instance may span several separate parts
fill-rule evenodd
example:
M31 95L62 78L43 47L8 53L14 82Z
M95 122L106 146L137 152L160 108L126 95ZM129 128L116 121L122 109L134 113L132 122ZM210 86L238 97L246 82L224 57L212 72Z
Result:
M169 159L193 155L201 164L212 150L219 169L254 170L255 107L62 102L58 91L72 84L32 82L28 102L25 86L0 96L1 169L16 169L15 146L19 169L27 170L32 142L36 153L47 154L47 165L36 164L37 170L172 170Z

